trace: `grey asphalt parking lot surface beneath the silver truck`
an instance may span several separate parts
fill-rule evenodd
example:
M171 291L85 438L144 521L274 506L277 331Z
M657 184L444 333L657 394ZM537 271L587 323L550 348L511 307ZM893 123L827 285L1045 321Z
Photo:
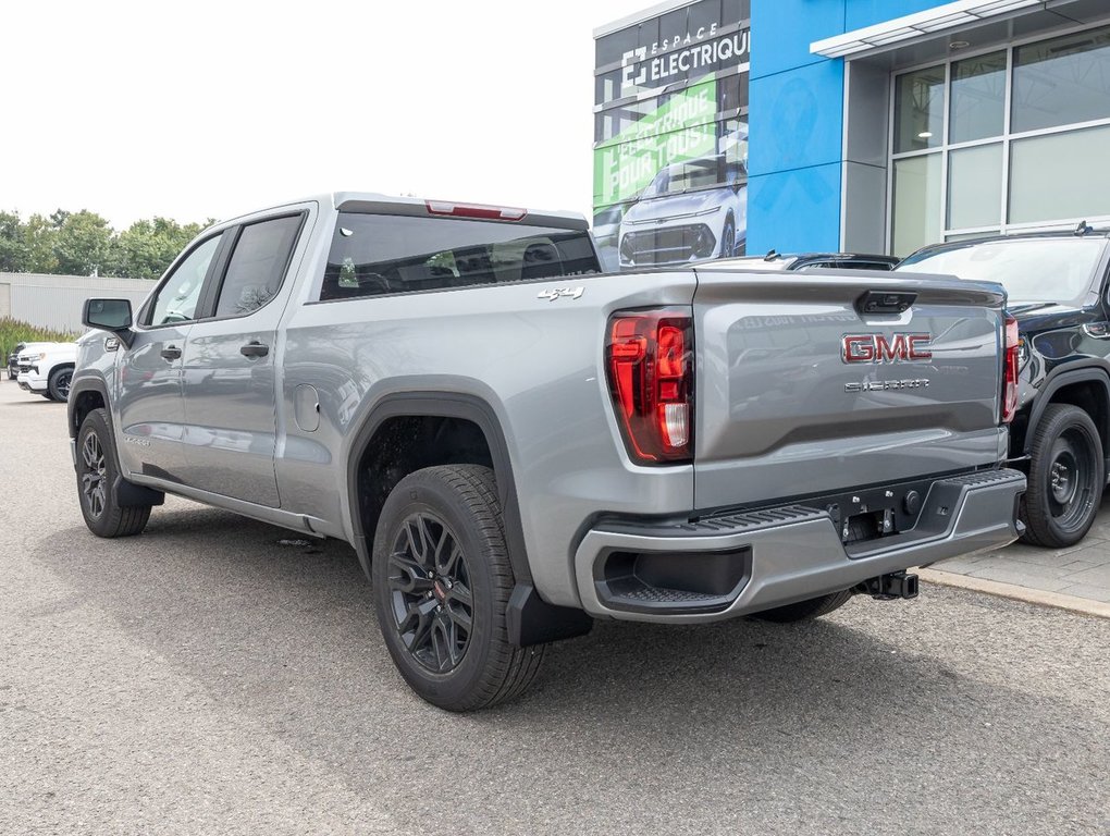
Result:
M925 585L599 624L457 716L346 545L173 498L98 540L64 405L4 382L0 437L0 833L1110 832L1110 621Z

